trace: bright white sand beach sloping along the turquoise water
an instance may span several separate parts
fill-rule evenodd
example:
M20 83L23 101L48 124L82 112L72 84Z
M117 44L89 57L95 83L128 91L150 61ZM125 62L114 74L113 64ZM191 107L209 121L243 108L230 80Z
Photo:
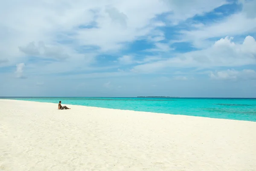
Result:
M256 122L66 105L0 100L0 171L256 171Z

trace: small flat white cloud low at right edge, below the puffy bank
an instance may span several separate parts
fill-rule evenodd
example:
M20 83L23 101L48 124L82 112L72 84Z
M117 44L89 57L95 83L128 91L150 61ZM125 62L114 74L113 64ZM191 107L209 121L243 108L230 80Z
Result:
M224 70L217 72L210 72L209 77L215 80L248 80L248 79L256 79L255 70Z

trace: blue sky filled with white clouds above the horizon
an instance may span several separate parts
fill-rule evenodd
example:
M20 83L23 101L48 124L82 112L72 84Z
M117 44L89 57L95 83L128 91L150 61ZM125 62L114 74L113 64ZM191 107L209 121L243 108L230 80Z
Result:
M256 0L0 2L0 96L256 97Z

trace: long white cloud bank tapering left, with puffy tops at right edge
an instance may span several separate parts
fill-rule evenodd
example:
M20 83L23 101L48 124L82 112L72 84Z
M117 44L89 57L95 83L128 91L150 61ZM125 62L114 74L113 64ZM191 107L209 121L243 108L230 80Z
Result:
M177 54L176 57L137 65L136 72L155 72L168 67L236 67L256 64L256 41L247 36L242 44L232 42L232 38L221 38L204 50Z

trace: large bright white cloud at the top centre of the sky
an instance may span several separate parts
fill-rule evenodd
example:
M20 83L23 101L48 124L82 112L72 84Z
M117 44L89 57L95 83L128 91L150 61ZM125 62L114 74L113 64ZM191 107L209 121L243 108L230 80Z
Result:
M142 0L137 3L119 1L108 10L108 15L101 9L104 9L104 6L99 6L97 28L80 29L75 37L80 44L99 46L101 52L114 52L122 49L126 42L150 35L151 31L159 26L152 19L157 14L168 11L158 0L150 0L150 2Z

